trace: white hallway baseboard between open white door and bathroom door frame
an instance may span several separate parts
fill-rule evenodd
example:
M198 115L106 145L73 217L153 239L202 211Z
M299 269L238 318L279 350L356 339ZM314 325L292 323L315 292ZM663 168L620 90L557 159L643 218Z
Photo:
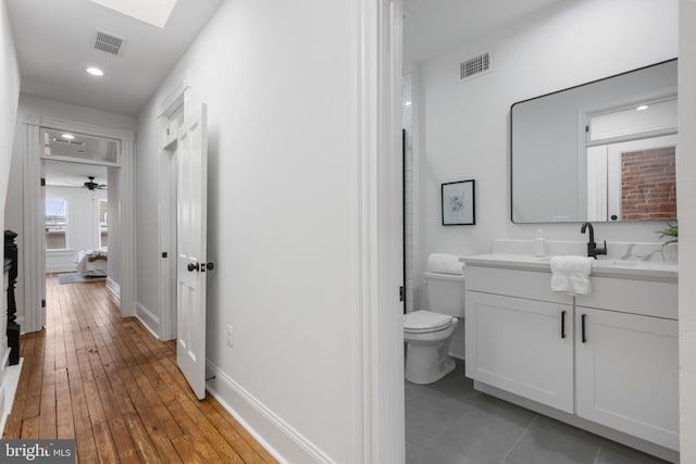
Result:
M229 412L253 438L281 463L335 464L326 453L283 421L261 401L234 381L216 365L207 362L206 385L225 410ZM233 409L231 404L234 404ZM274 443L272 447L270 442Z

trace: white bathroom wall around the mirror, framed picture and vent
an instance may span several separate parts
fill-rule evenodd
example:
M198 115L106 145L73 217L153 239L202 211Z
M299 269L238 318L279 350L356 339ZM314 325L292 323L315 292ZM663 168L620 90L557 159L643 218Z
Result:
M517 101L678 54L676 0L560 2L420 65L422 136L419 271L428 253L490 251L495 238L533 239L538 225L510 221L509 111ZM489 74L457 80L458 63L489 50ZM549 173L552 175L552 173ZM442 183L476 180L476 225L440 225ZM660 223L597 224L597 239L657 241ZM586 240L580 224L545 224L547 239ZM421 305L423 292L419 292Z

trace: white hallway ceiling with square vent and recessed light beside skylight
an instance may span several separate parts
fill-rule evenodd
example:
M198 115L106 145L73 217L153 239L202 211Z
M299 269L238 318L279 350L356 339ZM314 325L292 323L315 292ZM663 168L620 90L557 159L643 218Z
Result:
M23 92L136 115L223 0L178 0L164 28L89 0L3 1ZM96 28L127 40L122 55L92 48ZM90 65L104 77L87 75Z

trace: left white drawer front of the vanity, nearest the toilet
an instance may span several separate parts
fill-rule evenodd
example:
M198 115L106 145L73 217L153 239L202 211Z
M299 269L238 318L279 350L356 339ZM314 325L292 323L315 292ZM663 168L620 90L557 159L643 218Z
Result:
M530 300L571 304L573 299L551 291L548 272L506 269L468 264L464 271L467 290L506 294Z

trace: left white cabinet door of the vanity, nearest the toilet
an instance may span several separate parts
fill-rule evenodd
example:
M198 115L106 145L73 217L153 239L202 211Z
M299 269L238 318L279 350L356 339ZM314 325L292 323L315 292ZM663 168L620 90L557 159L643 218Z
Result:
M467 376L573 412L573 313L561 303L467 291Z

